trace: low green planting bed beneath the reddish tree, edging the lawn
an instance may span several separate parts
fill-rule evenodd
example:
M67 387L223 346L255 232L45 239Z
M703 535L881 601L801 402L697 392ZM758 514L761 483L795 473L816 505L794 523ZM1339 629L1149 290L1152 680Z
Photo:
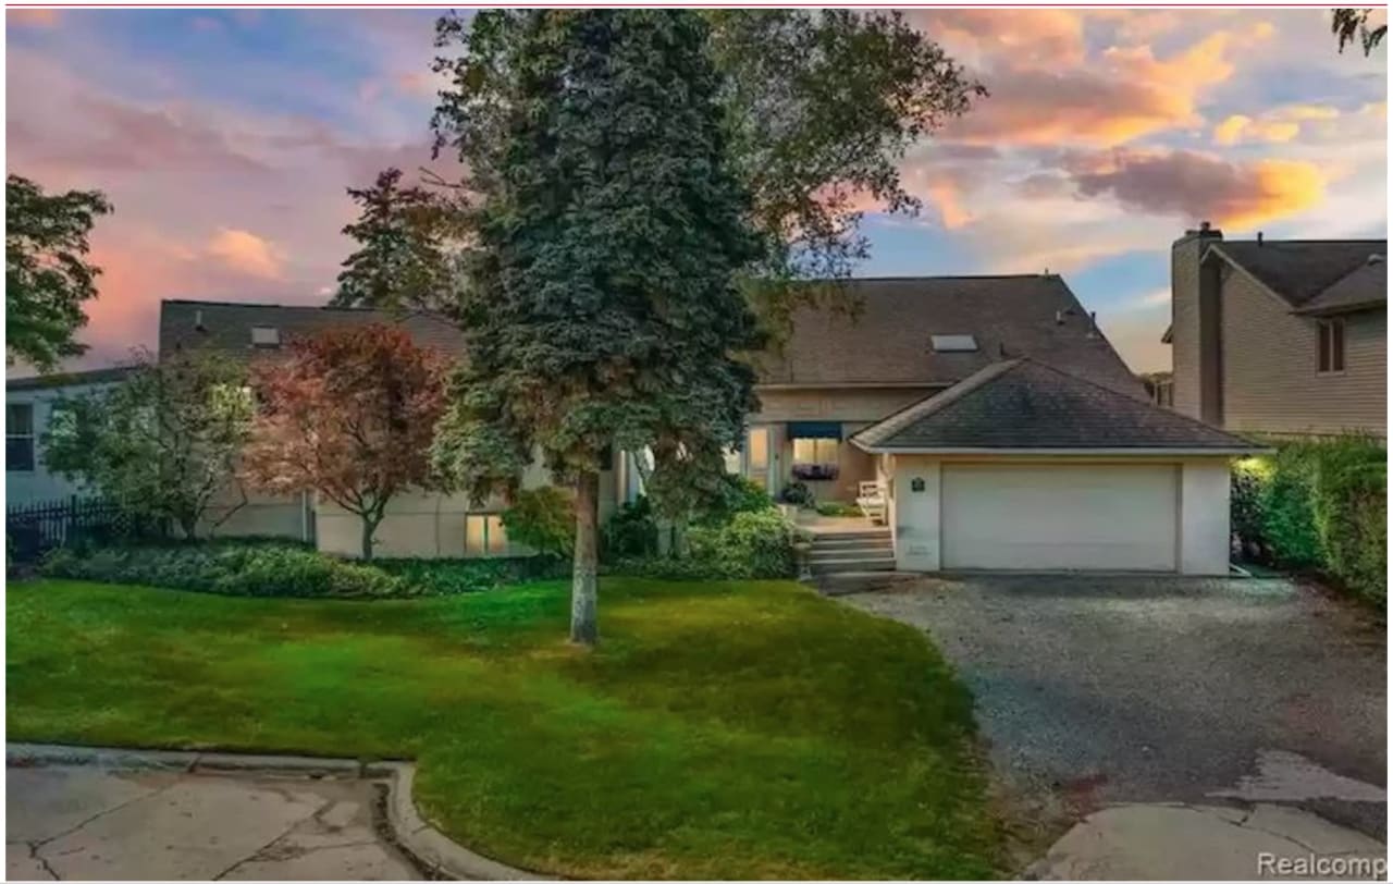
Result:
M350 562L298 544L209 541L169 547L54 549L46 577L134 583L220 595L403 598L493 590L552 577L564 563L527 559L376 559Z

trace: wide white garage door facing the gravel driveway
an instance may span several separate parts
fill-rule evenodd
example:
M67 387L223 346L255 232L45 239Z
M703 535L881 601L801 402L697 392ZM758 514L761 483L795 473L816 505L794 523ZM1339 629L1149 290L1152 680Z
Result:
M943 464L943 567L1176 570L1177 473Z

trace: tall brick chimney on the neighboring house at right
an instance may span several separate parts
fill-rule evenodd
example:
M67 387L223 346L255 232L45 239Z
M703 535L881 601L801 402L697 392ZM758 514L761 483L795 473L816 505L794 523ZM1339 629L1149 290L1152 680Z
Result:
M1174 407L1222 422L1219 385L1219 276L1199 259L1223 231L1201 222L1170 245L1170 358Z

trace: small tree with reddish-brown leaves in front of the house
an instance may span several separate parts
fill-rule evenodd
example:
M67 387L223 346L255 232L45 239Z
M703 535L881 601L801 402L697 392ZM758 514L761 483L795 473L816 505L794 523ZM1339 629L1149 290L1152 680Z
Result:
M435 489L430 441L446 406L447 360L393 325L297 339L252 368L258 409L242 452L247 482L315 491L362 520L362 558L387 503Z

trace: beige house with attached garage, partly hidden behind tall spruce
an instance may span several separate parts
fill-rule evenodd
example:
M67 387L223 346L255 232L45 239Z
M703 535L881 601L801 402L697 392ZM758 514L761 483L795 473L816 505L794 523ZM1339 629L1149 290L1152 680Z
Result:
M727 466L779 495L885 489L896 562L956 567L1226 573L1229 459L1254 445L1159 409L1055 275L862 279L844 310L794 311L786 342L754 357L761 410ZM215 347L273 358L338 323L401 322L458 351L432 314L164 301L160 353ZM524 487L549 481L534 467ZM614 452L602 517L641 489ZM355 517L312 509L320 549L357 555ZM501 501L403 495L380 555L490 556L517 549Z

